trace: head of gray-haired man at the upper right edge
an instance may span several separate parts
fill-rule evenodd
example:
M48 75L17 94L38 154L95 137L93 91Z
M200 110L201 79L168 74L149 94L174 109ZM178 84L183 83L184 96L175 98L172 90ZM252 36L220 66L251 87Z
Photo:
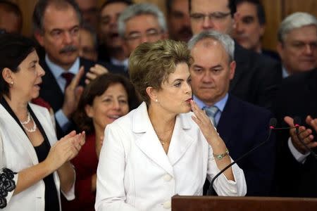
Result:
M282 60L282 77L316 68L317 19L309 13L292 13L278 30L277 50Z

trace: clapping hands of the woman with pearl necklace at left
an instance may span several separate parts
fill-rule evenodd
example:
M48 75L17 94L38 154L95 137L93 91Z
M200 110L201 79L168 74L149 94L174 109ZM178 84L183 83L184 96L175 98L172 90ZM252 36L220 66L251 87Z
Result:
M65 162L72 160L85 144L85 132L70 132L51 147L46 163L51 171L57 170Z

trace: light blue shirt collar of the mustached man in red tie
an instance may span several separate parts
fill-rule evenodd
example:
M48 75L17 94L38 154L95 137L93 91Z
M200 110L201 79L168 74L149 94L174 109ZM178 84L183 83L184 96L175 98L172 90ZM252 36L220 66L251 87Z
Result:
M45 55L45 61L46 61L47 66L51 70L51 73L54 75L56 82L58 83L59 88L61 88L61 91L64 92L66 79L63 78L61 75L66 70L64 70L63 68L61 68L61 66L58 66L55 63L53 63L51 60L49 60L49 56L47 56L47 53ZM76 75L77 72L79 71L79 68L80 68L80 59L79 59L79 57L77 57L75 62L73 63L73 65L67 71Z

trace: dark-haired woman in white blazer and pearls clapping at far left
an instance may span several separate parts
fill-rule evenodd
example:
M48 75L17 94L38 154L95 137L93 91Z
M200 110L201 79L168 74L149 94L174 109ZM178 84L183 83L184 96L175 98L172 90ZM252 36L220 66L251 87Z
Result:
M49 111L29 101L39 96L44 70L30 39L0 35L0 208L61 210L60 189L74 198L68 162L85 132L56 142Z

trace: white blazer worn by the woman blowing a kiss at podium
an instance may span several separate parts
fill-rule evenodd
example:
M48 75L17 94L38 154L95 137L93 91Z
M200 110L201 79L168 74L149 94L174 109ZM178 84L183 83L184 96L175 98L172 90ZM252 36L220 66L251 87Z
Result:
M145 103L108 124L97 169L96 210L170 210L175 194L201 196L206 177L219 170L192 115L176 117L167 155ZM213 184L218 195L247 193L243 171L237 165L232 171L235 182L221 174Z

